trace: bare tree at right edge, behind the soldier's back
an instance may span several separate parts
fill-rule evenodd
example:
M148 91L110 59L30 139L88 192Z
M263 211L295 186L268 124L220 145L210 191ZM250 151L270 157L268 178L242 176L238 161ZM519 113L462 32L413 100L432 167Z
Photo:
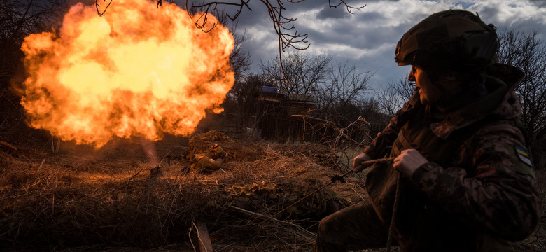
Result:
M535 167L546 158L546 43L538 31L520 32L513 29L500 33L498 61L517 66L524 72L516 92L523 109L522 119L529 134L529 145L535 157Z

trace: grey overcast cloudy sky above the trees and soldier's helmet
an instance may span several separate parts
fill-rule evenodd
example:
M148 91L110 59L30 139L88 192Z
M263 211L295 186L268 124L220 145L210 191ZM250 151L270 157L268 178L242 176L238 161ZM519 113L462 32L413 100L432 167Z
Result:
M407 76L409 66L397 66L394 62L396 43L409 28L441 10L469 10L500 29L538 30L540 38L546 38L546 0L346 1L352 6L365 5L352 15L345 8L329 8L328 0L283 2L286 17L297 18L297 31L309 34L311 45L307 53L330 53L337 62L348 60L362 72L375 72L370 80L374 88ZM276 57L278 44L263 3L254 0L249 6L252 11L244 10L238 18L237 32L246 30L248 41L244 47L251 52L252 70L258 72L260 60L266 62Z

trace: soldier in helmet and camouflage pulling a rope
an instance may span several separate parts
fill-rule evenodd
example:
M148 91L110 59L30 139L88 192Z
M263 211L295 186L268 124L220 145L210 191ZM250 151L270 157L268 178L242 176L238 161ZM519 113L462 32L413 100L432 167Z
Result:
M522 73L495 64L497 51L495 27L464 10L430 15L402 36L395 61L412 65L416 92L353 171L395 160L370 167L369 202L321 221L316 251L384 247L389 235L400 251L511 251L531 235L538 192L513 92Z

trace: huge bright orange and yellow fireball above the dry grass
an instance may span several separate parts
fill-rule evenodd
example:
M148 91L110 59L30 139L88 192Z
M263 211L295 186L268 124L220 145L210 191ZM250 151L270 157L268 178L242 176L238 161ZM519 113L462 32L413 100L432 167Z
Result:
M116 0L100 17L78 3L58 34L25 38L21 104L31 127L97 148L115 136L188 135L205 110L222 111L233 46L226 27L205 33L174 4Z

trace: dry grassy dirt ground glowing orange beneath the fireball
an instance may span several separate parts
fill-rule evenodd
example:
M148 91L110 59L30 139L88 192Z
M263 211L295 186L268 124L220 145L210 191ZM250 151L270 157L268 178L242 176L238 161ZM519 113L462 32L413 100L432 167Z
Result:
M189 171L188 145L214 143L230 154L222 169ZM0 147L1 251L195 251L198 223L214 251L312 251L323 216L366 198L362 179L348 176L289 207L346 172L318 145L221 132L116 139L99 150L12 144ZM546 175L537 176L543 198ZM546 250L545 221L516 251Z

